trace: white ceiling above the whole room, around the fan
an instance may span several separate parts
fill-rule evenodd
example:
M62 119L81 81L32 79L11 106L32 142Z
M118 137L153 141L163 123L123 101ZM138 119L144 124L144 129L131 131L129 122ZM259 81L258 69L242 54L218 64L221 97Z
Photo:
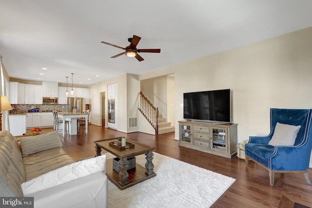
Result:
M66 83L74 73L74 84L89 85L310 27L311 8L312 0L0 0L0 54L11 78ZM124 50L100 43L126 47L134 34L137 48L161 52L112 59Z

